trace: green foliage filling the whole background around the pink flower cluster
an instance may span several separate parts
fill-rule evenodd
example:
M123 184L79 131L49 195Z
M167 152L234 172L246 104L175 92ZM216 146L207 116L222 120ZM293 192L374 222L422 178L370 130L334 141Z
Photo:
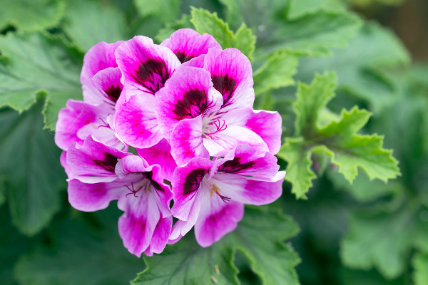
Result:
M400 2L2 1L0 284L428 284L428 66L365 19ZM93 44L185 27L252 60L286 182L213 247L188 234L138 259L116 207L68 204L56 116Z

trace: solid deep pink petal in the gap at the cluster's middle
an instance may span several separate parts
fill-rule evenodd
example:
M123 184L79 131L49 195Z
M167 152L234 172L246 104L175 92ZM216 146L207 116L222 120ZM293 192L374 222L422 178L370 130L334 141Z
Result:
M161 165L161 176L171 181L177 163L171 155L171 147L167 140L162 139L153 147L138 148L138 155L143 157L149 165Z

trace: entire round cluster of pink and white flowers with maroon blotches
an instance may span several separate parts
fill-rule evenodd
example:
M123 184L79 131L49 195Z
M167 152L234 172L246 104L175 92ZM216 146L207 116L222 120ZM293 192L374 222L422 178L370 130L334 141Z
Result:
M237 49L191 29L160 45L102 42L86 53L81 83L83 102L68 100L56 124L68 200L91 212L117 199L129 252L161 253L192 227L208 247L244 204L280 197L281 118L253 110L252 68Z

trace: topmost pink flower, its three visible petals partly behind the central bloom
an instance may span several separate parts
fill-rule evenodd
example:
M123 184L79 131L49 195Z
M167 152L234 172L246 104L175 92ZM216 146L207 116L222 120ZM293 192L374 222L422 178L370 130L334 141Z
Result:
M124 142L143 148L163 138L155 113L158 91L182 62L192 63L211 47L220 48L213 36L201 36L188 28L176 31L161 45L135 36L118 47L116 58L127 102L118 108L116 130Z

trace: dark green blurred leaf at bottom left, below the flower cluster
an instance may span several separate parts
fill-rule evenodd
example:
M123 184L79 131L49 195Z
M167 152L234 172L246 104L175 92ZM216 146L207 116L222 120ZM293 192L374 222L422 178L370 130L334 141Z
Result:
M49 231L51 243L39 243L19 259L19 284L127 284L144 263L123 247L118 216L118 210L107 209L58 221Z

